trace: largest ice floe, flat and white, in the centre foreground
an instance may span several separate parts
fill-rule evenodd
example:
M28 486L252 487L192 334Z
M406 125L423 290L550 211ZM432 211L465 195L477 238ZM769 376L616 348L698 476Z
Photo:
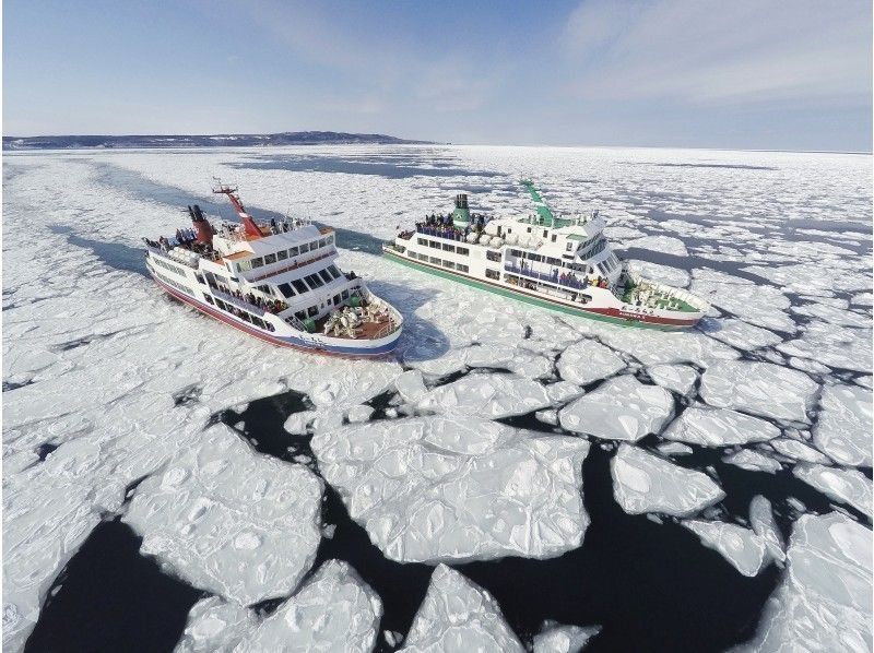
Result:
M312 450L393 560L545 558L578 547L589 524L578 438L437 416L319 432Z

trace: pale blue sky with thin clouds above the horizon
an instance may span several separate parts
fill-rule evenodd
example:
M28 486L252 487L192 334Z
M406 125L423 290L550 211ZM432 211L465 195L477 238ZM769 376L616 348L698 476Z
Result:
M871 152L870 0L5 0L3 134Z

